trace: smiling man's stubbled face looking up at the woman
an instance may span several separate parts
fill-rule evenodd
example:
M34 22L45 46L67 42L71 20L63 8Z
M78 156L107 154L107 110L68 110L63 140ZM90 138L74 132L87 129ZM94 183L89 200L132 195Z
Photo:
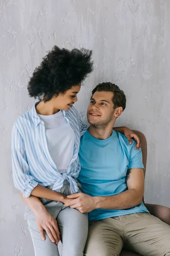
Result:
M113 120L113 93L96 91L87 110L88 122L94 126L107 126Z

